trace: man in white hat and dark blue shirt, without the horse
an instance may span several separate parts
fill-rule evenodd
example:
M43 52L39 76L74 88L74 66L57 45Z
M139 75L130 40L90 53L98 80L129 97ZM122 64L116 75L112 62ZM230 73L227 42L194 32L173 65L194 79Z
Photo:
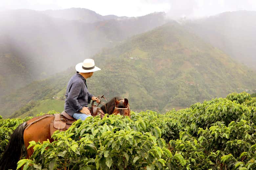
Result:
M77 71L68 82L64 110L75 119L91 116L88 104L91 100L100 102L98 98L88 92L86 79L92 77L95 71L101 70L95 66L93 59L85 59L75 66Z

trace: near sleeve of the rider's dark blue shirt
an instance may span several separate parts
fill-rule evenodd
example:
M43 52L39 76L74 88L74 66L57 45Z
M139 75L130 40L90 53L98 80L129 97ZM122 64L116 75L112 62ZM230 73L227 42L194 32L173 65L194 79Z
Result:
M67 97L67 100L68 100L70 106L76 112L83 109L82 106L79 104L79 102L77 100L78 95L80 94L81 90L82 90L82 85L79 82L75 82L71 86L71 89L70 89L70 91L68 93L68 97Z

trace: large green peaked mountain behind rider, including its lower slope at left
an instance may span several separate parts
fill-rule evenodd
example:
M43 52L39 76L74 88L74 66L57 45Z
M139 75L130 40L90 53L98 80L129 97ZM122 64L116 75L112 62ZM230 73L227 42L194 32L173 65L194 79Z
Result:
M88 79L89 91L96 96L104 94L109 99L114 96L128 98L133 110L165 112L225 97L233 91L247 89L253 93L256 86L254 71L176 22L104 49L94 58L102 70ZM62 100L59 105L63 108L65 86L74 73L73 68L2 98L0 115L10 116L31 100L40 101L18 110L16 116L40 112L37 108L43 107L42 102ZM14 102L16 105L10 107Z

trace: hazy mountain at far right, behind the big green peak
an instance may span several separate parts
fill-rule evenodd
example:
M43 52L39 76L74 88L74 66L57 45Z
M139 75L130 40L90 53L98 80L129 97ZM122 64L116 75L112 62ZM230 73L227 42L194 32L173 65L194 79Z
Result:
M256 70L256 11L224 12L185 25L206 42Z

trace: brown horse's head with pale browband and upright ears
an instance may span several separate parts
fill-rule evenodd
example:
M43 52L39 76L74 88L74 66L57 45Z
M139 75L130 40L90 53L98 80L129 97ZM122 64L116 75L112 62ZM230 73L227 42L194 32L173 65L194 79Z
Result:
M115 109L113 114L131 117L131 110L128 104L128 99L117 100L115 98Z

